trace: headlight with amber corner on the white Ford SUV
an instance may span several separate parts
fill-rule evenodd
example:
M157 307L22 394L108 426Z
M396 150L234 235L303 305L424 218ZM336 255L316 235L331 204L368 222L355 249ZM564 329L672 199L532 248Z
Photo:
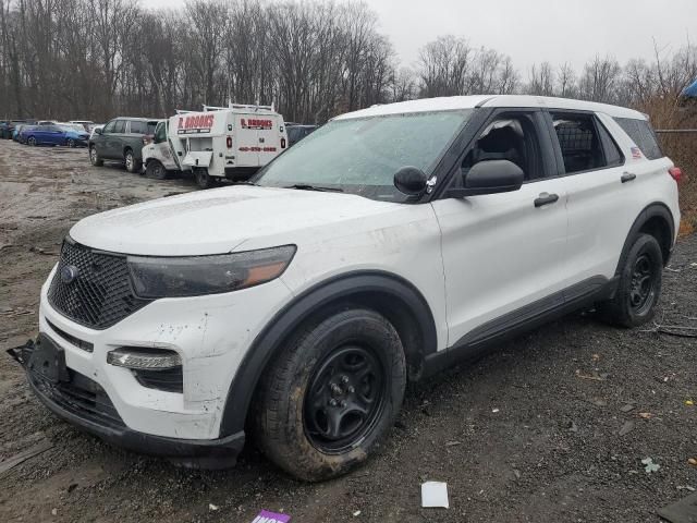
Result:
M196 296L271 281L283 273L295 250L295 245L283 245L215 256L129 256L129 267L140 297Z

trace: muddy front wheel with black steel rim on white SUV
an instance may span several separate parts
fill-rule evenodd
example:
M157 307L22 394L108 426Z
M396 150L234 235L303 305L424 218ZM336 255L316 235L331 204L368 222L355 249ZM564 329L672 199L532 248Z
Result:
M337 384L343 394L334 394ZM342 475L379 445L402 406L405 386L404 351L394 327L372 311L339 312L303 329L274 357L259 384L257 442L271 461L299 479ZM365 417L356 414L358 408L367 412ZM334 425L344 430L340 439L326 439L319 431L326 426L327 434L333 433L330 415L341 419Z

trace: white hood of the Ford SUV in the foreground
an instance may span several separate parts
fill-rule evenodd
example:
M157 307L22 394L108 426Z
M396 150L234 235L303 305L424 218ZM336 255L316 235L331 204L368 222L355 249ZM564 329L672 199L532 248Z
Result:
M222 254L244 251L248 239L280 234L281 243L294 243L293 231L331 228L401 207L352 194L237 185L100 212L78 221L70 235L83 245L124 254Z

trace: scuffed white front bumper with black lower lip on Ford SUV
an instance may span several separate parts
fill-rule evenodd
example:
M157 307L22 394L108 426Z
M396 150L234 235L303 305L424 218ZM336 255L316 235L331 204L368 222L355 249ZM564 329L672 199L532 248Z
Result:
M111 410L110 416L105 417L103 412L93 415L84 405L65 402L41 387L27 370L32 390L51 411L131 450L170 459L194 457L198 463L212 458L197 466L222 466L223 457L239 452L244 443L244 419L231 431L221 429L228 394L246 351L274 314L269 304L289 300L283 283L277 280L229 294L156 300L99 330L78 325L53 308L47 291L54 273L56 269L41 289L39 333L60 348L66 372L83 384L88 380L85 387L100 394ZM107 363L109 352L121 348L175 351L182 361L182 390L145 387L129 368Z

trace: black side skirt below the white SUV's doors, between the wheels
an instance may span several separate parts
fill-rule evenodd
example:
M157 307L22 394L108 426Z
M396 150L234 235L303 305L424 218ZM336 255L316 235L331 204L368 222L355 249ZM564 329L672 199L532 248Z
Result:
M594 276L537 302L474 328L445 351L426 356L424 377L432 376L461 361L473 358L504 340L515 338L596 302L611 299L617 277Z

